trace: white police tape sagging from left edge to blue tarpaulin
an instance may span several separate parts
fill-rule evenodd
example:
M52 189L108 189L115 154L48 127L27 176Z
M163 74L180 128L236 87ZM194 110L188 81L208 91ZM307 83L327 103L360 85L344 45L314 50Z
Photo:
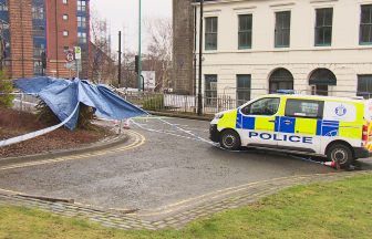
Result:
M76 111L79 108L79 105L80 104L78 103L76 107L72 112L72 114L66 119L61 122L60 124L54 125L52 127L44 128L44 129L40 129L40 131L37 131L37 132L32 132L32 133L29 133L29 134L24 134L24 135L21 135L21 136L17 136L17 137L13 137L13 138L8 138L8 139L4 139L4 141L0 141L0 147L17 144L17 143L21 143L21 142L24 142L24 141L29 141L29 139L39 137L39 136L48 134L48 133L51 133L51 132L62 127L64 124L66 124L74 116L74 114L76 113Z

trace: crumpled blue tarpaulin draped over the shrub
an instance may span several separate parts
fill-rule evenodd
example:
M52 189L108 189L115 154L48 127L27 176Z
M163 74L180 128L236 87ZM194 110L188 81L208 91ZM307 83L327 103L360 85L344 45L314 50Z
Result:
M79 103L91 106L95 115L107 119L124 119L146 115L147 112L126 102L105 85L94 85L87 81L52 77L20 79L14 85L28 94L37 94L53 111L61 122L66 119ZM76 127L79 111L65 124Z

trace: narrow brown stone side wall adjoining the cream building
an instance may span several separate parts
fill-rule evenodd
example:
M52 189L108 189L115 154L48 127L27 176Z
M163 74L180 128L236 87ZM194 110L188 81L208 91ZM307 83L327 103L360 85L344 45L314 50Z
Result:
M173 86L180 94L194 92L194 7L193 0L173 0Z

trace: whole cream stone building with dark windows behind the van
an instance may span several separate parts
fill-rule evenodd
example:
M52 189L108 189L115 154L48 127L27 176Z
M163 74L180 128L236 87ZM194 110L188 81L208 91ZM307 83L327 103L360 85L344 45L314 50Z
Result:
M372 95L372 0L205 1L203 49L207 97Z

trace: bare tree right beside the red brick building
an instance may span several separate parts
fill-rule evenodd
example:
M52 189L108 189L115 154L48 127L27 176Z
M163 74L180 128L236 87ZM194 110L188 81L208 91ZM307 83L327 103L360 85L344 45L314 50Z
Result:
M90 72L94 83L113 84L116 79L115 56L111 51L107 21L96 11L91 13Z

